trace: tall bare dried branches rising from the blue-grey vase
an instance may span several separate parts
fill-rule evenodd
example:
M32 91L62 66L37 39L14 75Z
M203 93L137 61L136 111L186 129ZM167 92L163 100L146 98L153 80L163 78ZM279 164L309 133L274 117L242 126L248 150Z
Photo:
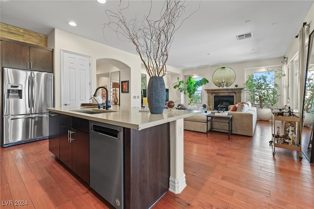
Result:
M150 77L163 77L166 74L166 62L175 31L197 10L183 18L186 8L185 0L165 0L160 11L160 18L152 20L150 18L155 8L151 0L148 14L142 20L135 17L128 21L123 11L128 9L130 2L126 8L122 8L121 3L122 0L116 12L105 10L109 18L109 23L104 24L105 27L108 26L114 30L118 38L122 35L134 44Z

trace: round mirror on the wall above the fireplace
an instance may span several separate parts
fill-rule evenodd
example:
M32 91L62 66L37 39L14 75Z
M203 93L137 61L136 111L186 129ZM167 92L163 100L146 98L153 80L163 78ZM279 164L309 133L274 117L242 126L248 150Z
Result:
M235 81L235 72L228 67L218 68L212 76L212 81L218 87L228 87Z

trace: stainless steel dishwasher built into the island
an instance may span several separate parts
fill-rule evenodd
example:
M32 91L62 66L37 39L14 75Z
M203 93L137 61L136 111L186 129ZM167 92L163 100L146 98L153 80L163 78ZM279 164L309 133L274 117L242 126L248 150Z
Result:
M122 127L89 122L90 186L116 209L124 208Z

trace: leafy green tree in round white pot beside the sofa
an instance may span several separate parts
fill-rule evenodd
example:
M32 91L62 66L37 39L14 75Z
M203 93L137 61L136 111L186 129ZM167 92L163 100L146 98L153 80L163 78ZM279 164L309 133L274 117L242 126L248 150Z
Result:
M249 94L252 104L258 105L257 117L260 120L271 119L271 109L280 98L280 85L275 79L286 76L282 70L269 70L261 75L248 75L244 83L245 92Z

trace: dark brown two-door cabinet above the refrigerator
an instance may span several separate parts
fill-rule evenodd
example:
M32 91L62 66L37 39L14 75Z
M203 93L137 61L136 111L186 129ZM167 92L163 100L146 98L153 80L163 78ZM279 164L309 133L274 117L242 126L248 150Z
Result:
M2 67L53 72L53 52L43 47L2 41Z

